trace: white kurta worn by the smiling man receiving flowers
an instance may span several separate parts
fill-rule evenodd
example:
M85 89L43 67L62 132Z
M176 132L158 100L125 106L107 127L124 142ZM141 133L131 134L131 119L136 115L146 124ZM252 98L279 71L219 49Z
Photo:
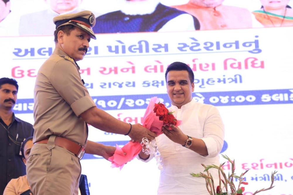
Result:
M163 170L160 174L158 195L161 194L208 194L205 179L192 177L190 173L204 171L205 165L219 165L219 153L224 144L224 125L219 111L212 105L202 104L192 100L181 109L172 105L169 110L182 120L179 128L184 134L202 139L209 155L202 156L194 151L174 143L164 134L156 138L158 150L161 153ZM146 162L154 156L150 156ZM215 187L219 185L217 169L209 171L214 178Z

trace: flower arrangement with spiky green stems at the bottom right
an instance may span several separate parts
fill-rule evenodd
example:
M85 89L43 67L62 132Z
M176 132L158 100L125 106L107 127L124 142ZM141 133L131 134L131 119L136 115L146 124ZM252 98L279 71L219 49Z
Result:
M204 165L204 164L201 164L203 167L205 167L205 170L204 172L207 172L207 174L204 174L202 172L200 173L191 173L190 175L192 175L193 177L202 177L202 178L205 178L205 182L206 182L206 186L207 186L207 191L209 192L210 195L243 195L242 193L244 192L245 188L244 187L240 187L241 184L243 185L248 185L248 182L243 182L243 175L245 175L248 170L246 170L244 173L241 173L240 176L237 176L234 171L235 171L235 162L234 160L232 161L230 158L228 158L228 156L226 155L222 155L225 159L227 159L231 165L232 165L232 173L230 175L228 175L228 177L226 177L226 174L224 173L223 171L223 168L222 166L225 164L225 163L222 163L220 166L216 166L216 165ZM217 186L216 188L216 191L215 191L215 186L214 186L214 179L212 177L212 175L209 174L209 169L211 168L214 168L214 169L218 169L219 170L219 179L220 179L220 183L219 185ZM252 195L255 195L261 191L266 191L266 190L269 190L269 189L272 189L273 187L273 184L274 184L274 175L277 173L277 171L274 171L272 172L272 175L271 175L271 185L270 187L266 188L266 189L260 189L260 190L257 190L255 191ZM224 179L221 179L221 178L224 178ZM238 186L235 186L233 180L235 179L239 179L239 184ZM223 184L223 188L221 187Z

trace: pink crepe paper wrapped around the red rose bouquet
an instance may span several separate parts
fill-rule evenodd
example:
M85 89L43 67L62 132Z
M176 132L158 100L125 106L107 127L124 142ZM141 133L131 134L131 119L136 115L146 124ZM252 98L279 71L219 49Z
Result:
M151 100L149 101L149 105L147 106L147 109L144 113L143 123L142 123L142 126L146 127L150 131L153 131L157 135L161 135L163 133L162 132L163 121L160 121L159 116L156 116L156 113L154 112L155 104L159 103L159 101L160 99L158 99L157 97L151 98ZM180 124L182 124L182 121L177 120L176 126L179 126ZM172 128L169 127L169 129L171 130ZM127 162L134 159L141 150L142 150L142 145L141 143L137 141L134 143L130 141L127 144L125 144L125 146L123 146L122 148L120 148L116 144L115 153L108 160L112 162L112 165L111 165L112 168L120 167L120 170L121 170L122 167ZM126 153L126 155L124 155L124 153Z

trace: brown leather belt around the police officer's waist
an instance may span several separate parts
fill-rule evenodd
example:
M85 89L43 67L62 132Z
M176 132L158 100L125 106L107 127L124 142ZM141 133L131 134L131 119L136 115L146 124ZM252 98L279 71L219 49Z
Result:
M36 143L48 143L48 140L49 138L45 138L41 141L37 141ZM74 153L80 160L84 156L84 147L67 138L56 136L55 145L69 150L70 152Z

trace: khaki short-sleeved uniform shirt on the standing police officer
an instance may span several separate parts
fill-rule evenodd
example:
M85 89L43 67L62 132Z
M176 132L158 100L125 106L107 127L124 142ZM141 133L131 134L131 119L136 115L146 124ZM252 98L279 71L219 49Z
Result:
M88 126L80 114L95 106L77 64L56 48L40 67L35 82L33 142L53 134L85 146Z

